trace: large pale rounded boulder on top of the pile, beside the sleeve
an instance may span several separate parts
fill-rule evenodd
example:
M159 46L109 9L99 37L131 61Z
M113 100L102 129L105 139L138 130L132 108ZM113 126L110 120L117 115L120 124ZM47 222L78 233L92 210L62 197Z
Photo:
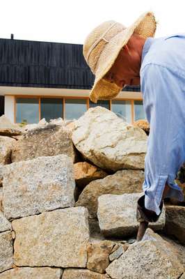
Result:
M72 141L102 169L144 169L147 135L104 107L90 108L75 122Z

